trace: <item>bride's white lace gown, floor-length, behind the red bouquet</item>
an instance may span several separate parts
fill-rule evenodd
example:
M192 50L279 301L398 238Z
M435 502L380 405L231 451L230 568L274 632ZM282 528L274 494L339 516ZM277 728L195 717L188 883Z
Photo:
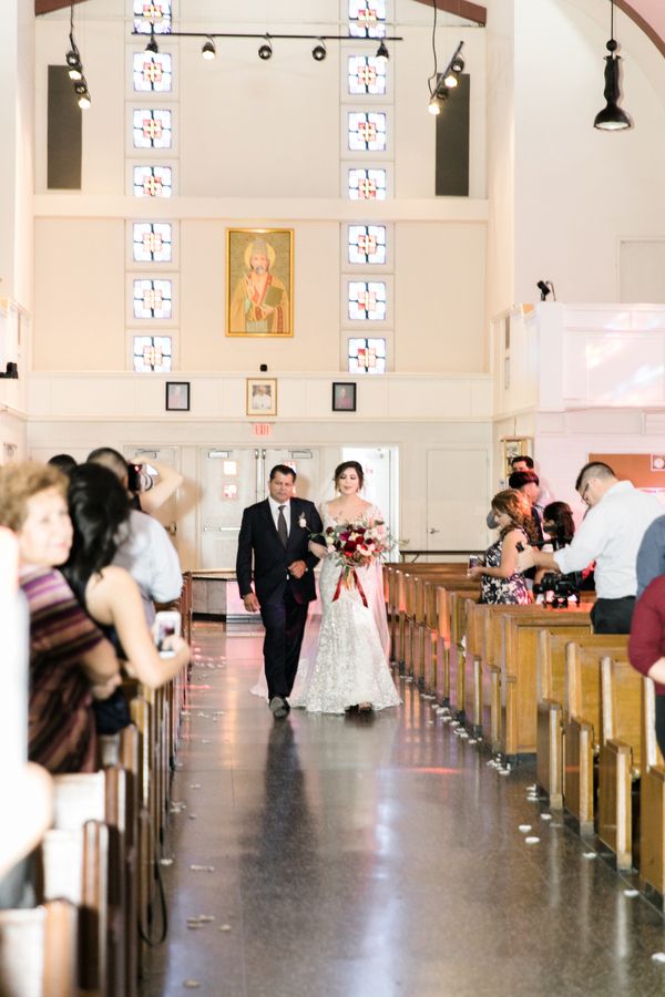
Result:
M382 520L376 506L367 511ZM324 528L334 526L328 506L323 511ZM375 710L398 706L401 701L388 667L388 621L383 599L381 565L377 561L357 568L367 606L358 588L340 587L334 600L340 567L332 557L324 558L319 575L323 616L318 627L318 647L314 631L305 635L296 683L289 697L293 707L308 712L344 713L357 703L369 702Z

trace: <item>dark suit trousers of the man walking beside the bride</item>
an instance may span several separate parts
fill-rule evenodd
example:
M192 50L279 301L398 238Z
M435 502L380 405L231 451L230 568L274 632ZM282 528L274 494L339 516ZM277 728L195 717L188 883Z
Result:
M309 603L296 603L287 582L260 604L260 617L266 630L264 661L268 699L290 695L308 609Z

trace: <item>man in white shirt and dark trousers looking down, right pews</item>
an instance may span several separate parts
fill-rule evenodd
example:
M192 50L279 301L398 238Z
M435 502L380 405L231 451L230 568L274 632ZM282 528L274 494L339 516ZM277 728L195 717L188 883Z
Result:
M569 574L595 561L594 631L630 634L637 592L637 551L647 527L663 515L663 506L632 482L618 481L612 467L601 462L582 467L575 489L589 511L570 546L551 554L524 551L518 569L535 565Z

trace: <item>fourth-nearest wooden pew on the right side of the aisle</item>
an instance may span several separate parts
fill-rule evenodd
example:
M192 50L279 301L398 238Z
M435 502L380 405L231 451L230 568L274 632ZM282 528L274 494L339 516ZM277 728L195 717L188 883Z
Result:
M575 634L573 641L567 634L542 629L538 633L536 647L536 770L535 781L546 794L550 806L563 806L564 730L567 721L565 709L566 654L572 644L574 655L581 646L597 648L600 656L625 652L627 635Z

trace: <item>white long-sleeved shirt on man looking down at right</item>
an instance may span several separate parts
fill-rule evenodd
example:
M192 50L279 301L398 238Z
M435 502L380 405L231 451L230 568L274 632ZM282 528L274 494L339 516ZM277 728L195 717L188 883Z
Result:
M663 515L663 506L620 481L590 508L570 546L554 554L560 569L581 572L595 561L595 586L600 599L621 599L637 592L637 551L646 530Z

